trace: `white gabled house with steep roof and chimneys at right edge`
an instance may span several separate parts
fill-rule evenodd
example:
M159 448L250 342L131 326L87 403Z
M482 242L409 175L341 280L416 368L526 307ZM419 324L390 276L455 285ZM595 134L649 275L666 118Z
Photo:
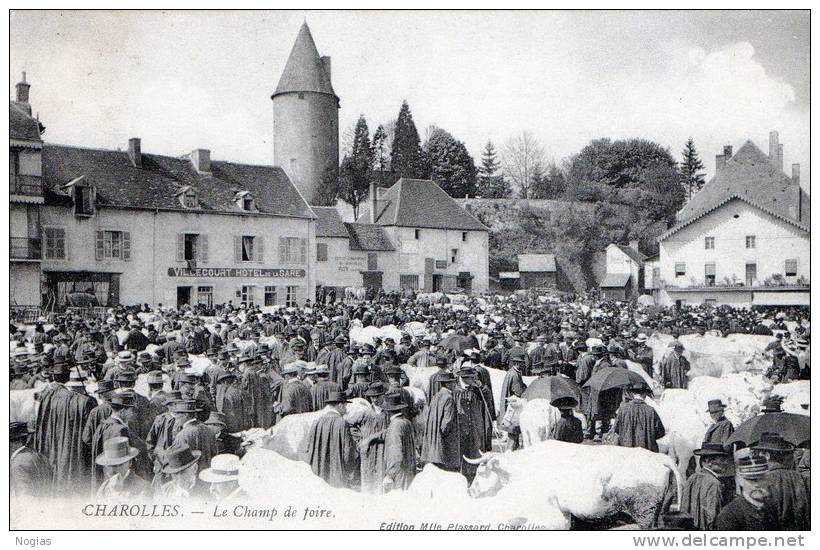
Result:
M783 173L777 132L769 146L769 155L751 141L734 155L726 146L715 176L659 237L658 303L809 303L810 200L799 165Z

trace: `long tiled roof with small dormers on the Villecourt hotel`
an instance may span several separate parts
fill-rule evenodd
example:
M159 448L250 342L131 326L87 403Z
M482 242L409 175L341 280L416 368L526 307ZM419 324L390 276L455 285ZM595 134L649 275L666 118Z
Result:
M125 151L45 144L47 204L65 204L61 187L80 176L94 185L97 205L102 208L242 213L235 197L244 190L252 194L259 214L315 218L279 167L212 161L211 173L200 174L188 158L143 153L142 167L137 168ZM177 194L186 185L196 190L198 208L182 207Z

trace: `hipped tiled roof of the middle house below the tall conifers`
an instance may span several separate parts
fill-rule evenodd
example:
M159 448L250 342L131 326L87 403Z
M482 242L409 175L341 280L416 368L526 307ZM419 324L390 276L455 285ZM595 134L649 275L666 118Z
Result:
M380 193L377 204L379 225L489 231L432 180L402 178ZM370 220L369 209L359 216Z

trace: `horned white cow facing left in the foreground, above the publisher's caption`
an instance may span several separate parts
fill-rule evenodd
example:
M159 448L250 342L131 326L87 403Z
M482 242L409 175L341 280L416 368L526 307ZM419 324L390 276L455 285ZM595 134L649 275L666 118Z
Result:
M565 514L584 520L622 512L643 529L656 523L670 474L678 495L683 489L672 459L642 448L543 441L470 462L480 464L470 485L473 497L530 507L555 502Z

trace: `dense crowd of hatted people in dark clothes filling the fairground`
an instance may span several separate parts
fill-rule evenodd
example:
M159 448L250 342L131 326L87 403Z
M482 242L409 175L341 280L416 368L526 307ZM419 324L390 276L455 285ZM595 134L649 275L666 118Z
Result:
M34 425L10 426L12 493L235 497L245 452L236 434L312 411L326 414L310 426L304 459L333 487L403 490L425 464L471 481L476 467L465 457L492 450L502 435L518 447L517 429L501 434L499 420L507 398L523 396L528 376L582 388L552 401L561 411L552 438L658 452L665 428L645 402L652 389L636 382L599 392L590 384L602 369L626 368L629 360L664 388L686 388L683 344L675 340L657 358L647 346L654 333L769 334L767 375L775 382L810 375L804 309L789 311L789 330L783 313L727 307L664 309L583 296L471 297L458 307L446 296L374 298L324 297L266 312L230 303L207 310L120 306L100 317L68 311L33 327L12 323L10 387L35 389L38 403ZM404 332L398 341L373 344L350 339L354 325L410 322L423 323L424 335ZM437 369L425 395L409 386L404 365ZM505 371L497 404L488 369ZM369 409L351 424L347 407L362 399ZM725 405L704 407L714 424L680 498L687 527L806 528L808 450L776 433L733 448ZM777 409L772 400L766 414ZM576 410L588 419L586 431Z

